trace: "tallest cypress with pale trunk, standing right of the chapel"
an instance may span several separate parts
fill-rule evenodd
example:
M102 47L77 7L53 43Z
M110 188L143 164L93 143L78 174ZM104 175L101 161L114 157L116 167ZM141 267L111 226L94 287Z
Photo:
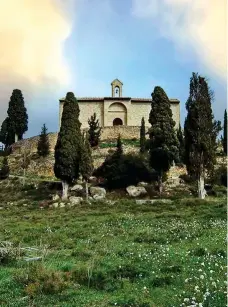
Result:
M188 173L197 178L198 196L201 199L206 195L205 175L213 172L216 163L216 138L221 130L220 122L214 121L212 99L213 92L205 78L193 73L186 102L185 162Z

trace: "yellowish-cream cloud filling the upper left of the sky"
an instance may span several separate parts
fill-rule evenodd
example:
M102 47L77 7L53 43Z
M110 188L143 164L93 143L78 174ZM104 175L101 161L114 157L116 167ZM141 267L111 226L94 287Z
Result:
M39 89L70 83L63 47L72 6L72 0L0 0L1 120L14 88L34 100Z

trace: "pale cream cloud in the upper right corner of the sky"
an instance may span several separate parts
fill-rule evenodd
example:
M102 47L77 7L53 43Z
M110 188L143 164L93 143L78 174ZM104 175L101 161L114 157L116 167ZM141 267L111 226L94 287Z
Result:
M226 0L132 0L132 15L149 20L182 56L226 80Z

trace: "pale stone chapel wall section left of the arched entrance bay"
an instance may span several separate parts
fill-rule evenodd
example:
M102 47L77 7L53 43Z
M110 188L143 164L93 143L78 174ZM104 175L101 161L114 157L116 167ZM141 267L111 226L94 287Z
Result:
M96 113L97 119L99 119L100 126L104 125L104 107L103 101L85 101L79 102L80 115L79 120L82 124L82 128L87 128L88 119ZM60 103L59 108L59 127L61 125L61 118L63 112L63 102Z

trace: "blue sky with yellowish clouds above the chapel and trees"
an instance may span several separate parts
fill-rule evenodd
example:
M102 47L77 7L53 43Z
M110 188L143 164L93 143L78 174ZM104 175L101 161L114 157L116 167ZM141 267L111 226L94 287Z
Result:
M13 89L29 116L25 137L58 130L59 98L150 98L161 86L186 116L192 72L214 91L214 116L227 104L226 0L0 0L0 124Z

